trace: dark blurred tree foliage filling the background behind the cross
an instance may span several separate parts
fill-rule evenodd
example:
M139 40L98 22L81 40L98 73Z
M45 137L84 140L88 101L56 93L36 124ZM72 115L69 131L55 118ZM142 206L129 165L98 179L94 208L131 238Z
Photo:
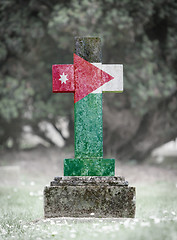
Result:
M11 0L0 3L0 142L22 126L70 122L68 94L51 94L51 65L72 63L74 36L100 36L103 61L124 64L125 91L104 96L104 150L143 160L177 136L175 0ZM50 141L50 140L49 140Z

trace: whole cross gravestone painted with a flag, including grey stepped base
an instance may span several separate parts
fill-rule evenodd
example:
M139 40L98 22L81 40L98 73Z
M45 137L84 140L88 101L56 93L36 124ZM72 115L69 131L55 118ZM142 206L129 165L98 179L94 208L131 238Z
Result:
M102 92L123 91L123 66L101 63L101 40L75 38L74 64L53 65L53 92L74 93L75 158L44 189L45 217L134 217L135 188L103 158Z

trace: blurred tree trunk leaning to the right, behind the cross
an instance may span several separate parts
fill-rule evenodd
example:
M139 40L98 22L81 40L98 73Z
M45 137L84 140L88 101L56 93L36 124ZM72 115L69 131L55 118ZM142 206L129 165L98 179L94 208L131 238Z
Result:
M149 156L154 148L176 138L177 90L148 111L142 118L136 119L134 114L129 111L129 120L126 120L126 115L125 110L120 111L118 116L121 116L122 124L119 124L115 129L109 121L107 131L110 129L111 131L109 137L106 138L106 143L109 143L107 147L105 146L106 153L110 152L110 148L119 160L135 159L141 162ZM111 111L109 111L109 116L109 118L115 118L115 114L113 115ZM125 120L123 121L123 119ZM135 124L134 128L132 129L130 125L125 124L126 121L132 122L132 125ZM124 134L122 134L123 131Z

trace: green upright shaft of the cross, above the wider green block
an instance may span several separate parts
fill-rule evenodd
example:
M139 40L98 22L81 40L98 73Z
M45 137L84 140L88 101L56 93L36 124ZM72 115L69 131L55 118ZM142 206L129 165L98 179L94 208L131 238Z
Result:
M75 158L103 157L102 93L74 104Z

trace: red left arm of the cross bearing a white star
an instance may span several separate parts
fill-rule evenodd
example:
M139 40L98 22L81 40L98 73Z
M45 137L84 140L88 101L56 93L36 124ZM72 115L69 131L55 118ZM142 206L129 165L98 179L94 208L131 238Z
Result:
M52 66L53 92L74 92L74 66L73 64L60 64Z

